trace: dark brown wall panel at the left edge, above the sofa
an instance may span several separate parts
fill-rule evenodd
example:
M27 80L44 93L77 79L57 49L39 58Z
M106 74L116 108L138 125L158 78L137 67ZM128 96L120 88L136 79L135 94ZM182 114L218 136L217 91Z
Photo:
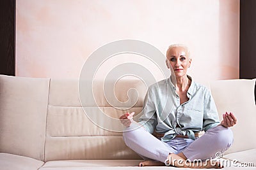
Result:
M15 0L0 1L0 74L15 76Z

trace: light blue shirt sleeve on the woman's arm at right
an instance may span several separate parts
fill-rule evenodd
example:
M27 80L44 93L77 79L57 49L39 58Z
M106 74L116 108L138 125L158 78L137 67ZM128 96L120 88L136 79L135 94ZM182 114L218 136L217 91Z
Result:
M205 94L204 101L204 120L203 120L203 130L206 132L212 127L216 127L220 124L218 111L214 103L214 99L211 92L207 90Z

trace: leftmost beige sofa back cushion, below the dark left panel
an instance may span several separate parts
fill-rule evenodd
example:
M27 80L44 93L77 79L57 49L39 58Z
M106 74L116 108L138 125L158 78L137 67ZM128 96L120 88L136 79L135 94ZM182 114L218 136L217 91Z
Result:
M44 160L49 79L0 75L0 152Z

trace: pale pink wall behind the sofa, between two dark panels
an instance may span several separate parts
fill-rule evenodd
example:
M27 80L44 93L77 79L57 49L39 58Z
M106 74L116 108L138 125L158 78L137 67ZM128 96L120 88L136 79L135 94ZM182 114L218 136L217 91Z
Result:
M172 43L188 45L188 74L196 81L239 78L239 0L17 0L16 6L17 76L78 78L100 46L138 39L163 53Z

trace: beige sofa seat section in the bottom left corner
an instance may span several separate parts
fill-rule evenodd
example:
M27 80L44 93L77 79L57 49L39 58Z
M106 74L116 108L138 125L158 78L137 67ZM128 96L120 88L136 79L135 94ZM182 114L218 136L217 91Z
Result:
M42 165L44 165L44 162L41 160L13 155L10 153L0 153L0 169L36 170Z

